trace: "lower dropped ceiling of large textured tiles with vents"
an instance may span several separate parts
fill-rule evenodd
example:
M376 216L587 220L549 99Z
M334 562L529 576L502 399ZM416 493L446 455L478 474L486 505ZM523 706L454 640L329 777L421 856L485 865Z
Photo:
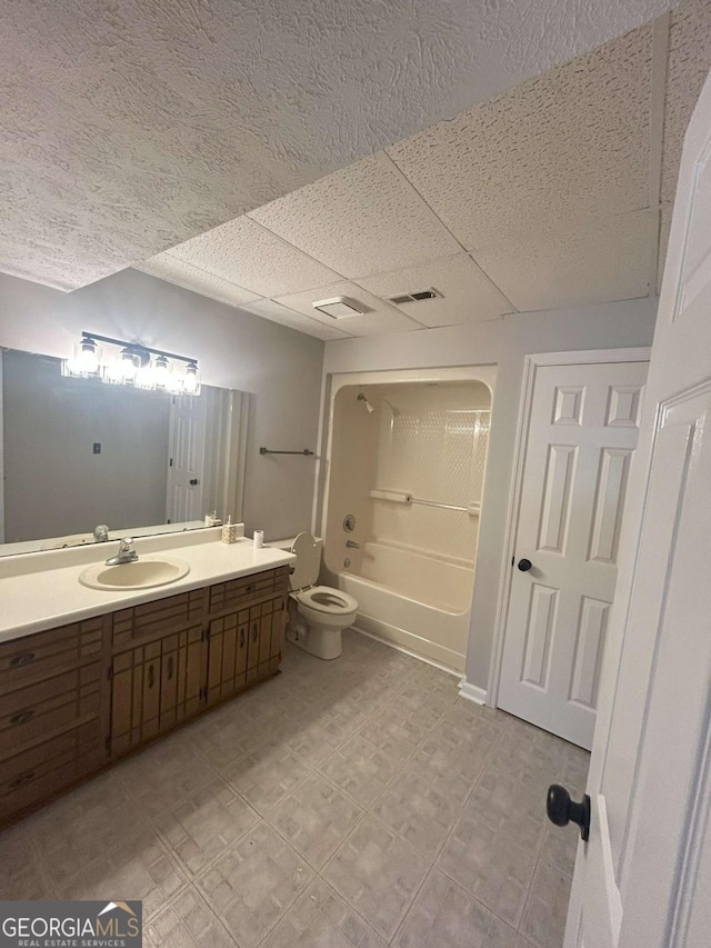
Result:
M234 283L233 306L254 293L246 309L322 339L647 296L709 68L711 0L692 0L141 268L216 296L176 279L178 256ZM429 287L442 297L388 302ZM313 310L337 295L371 312Z

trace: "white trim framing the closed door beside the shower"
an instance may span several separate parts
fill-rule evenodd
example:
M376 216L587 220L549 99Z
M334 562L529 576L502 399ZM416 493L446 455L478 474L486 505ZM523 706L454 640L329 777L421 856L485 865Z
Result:
M515 441L513 448L513 478L509 491L507 528L503 541L503 561L499 581L497 600L497 617L493 627L491 665L487 683L487 703L492 708L499 707L499 687L501 682L501 666L505 625L511 598L511 558L515 551L515 535L521 511L521 487L523 483L523 465L528 447L528 433L531 423L531 407L533 390L539 368L548 366L594 366L603 362L649 362L651 347L643 346L630 349L583 349L573 352L535 352L523 357L523 382L519 403Z

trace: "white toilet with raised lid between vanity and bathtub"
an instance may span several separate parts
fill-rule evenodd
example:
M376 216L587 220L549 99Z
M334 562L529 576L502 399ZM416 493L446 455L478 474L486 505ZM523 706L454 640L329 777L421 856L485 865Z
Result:
M338 658L341 629L354 622L358 600L340 589L314 586L321 568L321 540L304 531L290 549L297 561L290 577L287 638L317 658Z

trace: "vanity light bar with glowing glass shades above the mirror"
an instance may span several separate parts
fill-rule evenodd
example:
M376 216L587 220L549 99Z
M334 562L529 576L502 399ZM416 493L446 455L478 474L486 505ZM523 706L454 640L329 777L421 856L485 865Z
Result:
M98 346L103 342L103 350ZM184 365L183 365L184 363ZM98 378L109 385L128 385L176 395L200 395L197 359L163 352L139 342L124 342L96 332L82 332L72 359L62 360L62 375Z

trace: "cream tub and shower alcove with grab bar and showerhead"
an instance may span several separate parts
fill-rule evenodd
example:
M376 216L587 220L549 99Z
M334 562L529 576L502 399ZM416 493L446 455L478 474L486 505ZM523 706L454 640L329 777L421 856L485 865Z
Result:
M333 401L328 578L359 600L360 628L457 670L490 408L480 381L344 386Z

